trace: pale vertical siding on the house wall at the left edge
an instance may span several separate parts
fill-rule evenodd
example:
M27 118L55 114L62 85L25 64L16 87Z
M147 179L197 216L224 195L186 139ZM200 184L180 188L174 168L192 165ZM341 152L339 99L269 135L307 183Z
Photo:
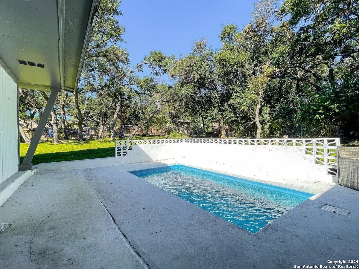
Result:
M18 171L17 84L0 66L0 183Z

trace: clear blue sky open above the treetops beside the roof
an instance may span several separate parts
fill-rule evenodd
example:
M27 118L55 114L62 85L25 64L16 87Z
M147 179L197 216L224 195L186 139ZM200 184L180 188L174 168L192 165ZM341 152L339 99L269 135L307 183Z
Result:
M130 53L131 66L149 51L159 50L176 57L191 51L196 39L204 37L209 46L220 48L218 34L231 22L243 28L250 21L254 0L122 0L125 27L119 45Z

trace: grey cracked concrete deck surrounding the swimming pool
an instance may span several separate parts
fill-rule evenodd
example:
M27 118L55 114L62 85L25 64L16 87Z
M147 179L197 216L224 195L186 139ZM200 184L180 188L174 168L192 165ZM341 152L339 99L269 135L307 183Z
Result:
M252 234L117 165L38 171L0 207L3 268L294 268L358 259L359 192L342 186ZM348 216L323 211L325 204Z

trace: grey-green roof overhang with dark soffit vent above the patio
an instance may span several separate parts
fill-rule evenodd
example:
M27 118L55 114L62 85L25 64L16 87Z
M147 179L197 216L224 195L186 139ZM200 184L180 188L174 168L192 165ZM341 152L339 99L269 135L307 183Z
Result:
M91 19L99 2L2 1L0 65L19 88L74 91L93 29Z

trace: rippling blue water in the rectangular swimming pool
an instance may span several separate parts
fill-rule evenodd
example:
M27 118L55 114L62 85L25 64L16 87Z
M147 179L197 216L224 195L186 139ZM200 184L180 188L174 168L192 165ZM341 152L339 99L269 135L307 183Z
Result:
M253 233L313 195L183 165L130 173Z

